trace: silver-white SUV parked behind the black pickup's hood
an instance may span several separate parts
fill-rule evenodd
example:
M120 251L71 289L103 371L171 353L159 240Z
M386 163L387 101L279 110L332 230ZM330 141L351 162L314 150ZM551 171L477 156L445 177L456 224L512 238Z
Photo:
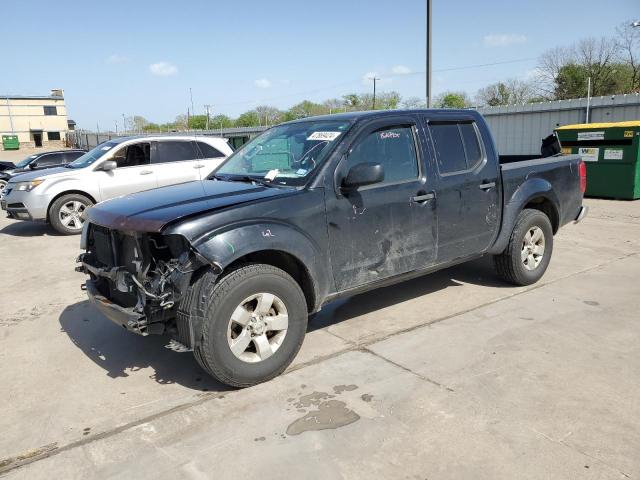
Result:
M60 233L78 234L87 207L120 195L203 180L231 153L223 138L116 138L65 167L12 178L0 207L12 218L47 221Z

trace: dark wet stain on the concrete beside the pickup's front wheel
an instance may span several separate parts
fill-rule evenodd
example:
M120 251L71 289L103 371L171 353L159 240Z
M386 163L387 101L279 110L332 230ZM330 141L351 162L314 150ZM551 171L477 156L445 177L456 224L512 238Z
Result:
M357 385L337 385L333 388L336 394L355 390ZM347 408L347 404L337 400L335 395L326 392L313 392L301 396L295 407L300 412L307 412L287 427L287 435L300 435L304 432L329 430L344 427L360 420L360 415Z

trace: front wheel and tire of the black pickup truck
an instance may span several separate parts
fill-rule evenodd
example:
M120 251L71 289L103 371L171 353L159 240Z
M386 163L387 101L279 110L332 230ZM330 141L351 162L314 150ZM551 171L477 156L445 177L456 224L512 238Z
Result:
M248 264L221 279L200 277L187 294L191 316L203 318L194 355L220 382L249 387L280 375L307 330L307 302L283 270Z

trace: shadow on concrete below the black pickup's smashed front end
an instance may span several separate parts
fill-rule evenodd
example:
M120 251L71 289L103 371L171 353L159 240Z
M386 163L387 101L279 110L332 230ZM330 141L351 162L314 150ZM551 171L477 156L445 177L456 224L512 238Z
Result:
M112 378L128 377L145 368L162 385L179 384L199 391L226 391L197 364L191 352L177 353L164 335L141 337L110 322L89 301L70 305L59 317L69 339Z

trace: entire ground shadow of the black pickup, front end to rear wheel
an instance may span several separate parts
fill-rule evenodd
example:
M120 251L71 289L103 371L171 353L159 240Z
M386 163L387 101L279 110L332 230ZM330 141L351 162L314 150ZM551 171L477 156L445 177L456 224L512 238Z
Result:
M319 330L412 298L428 295L465 283L509 288L498 279L490 258L455 266L440 272L389 287L336 300L313 316L308 331ZM115 325L89 301L65 308L59 318L62 331L96 365L112 378L127 377L145 368L160 384L179 384L199 391L230 390L213 380L197 364L191 353L169 350L167 336L141 337Z

